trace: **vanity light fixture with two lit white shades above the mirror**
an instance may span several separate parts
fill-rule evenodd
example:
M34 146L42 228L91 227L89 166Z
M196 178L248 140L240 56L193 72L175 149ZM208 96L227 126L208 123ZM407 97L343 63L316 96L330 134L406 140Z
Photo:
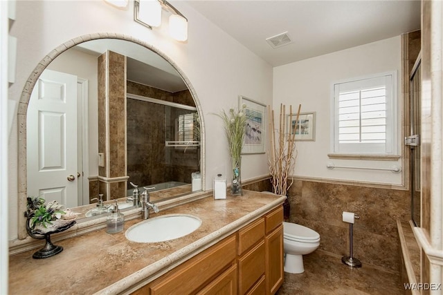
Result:
M161 26L161 12L166 10L169 17L169 34L177 41L188 39L188 19L165 0L134 0L134 21L152 30Z

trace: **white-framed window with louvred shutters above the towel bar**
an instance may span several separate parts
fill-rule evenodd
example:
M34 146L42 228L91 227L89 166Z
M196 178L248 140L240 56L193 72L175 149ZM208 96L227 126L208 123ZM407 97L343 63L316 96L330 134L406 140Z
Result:
M397 152L395 72L335 83L334 153Z

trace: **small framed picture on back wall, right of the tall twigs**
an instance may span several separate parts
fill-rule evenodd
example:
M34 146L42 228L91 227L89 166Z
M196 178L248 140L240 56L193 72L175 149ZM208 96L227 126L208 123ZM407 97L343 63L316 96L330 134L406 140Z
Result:
M289 134L296 133L295 139L315 142L316 140L316 112L288 115Z

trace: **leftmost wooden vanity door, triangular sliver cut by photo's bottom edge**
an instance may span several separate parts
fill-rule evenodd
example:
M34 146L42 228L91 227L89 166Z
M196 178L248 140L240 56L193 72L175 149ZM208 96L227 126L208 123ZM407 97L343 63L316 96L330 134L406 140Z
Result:
M218 276L197 295L235 295L237 294L237 265Z

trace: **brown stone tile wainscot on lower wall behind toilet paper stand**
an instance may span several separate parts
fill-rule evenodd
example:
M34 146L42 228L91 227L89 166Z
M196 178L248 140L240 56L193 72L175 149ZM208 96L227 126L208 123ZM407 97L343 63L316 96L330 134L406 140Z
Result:
M266 179L244 188L265 191L269 183ZM314 229L320 234L319 249L341 256L349 256L349 224L342 212L356 213L361 218L354 223L354 257L363 267L370 263L399 272L396 220L409 219L408 191L294 180L289 204L289 222Z

